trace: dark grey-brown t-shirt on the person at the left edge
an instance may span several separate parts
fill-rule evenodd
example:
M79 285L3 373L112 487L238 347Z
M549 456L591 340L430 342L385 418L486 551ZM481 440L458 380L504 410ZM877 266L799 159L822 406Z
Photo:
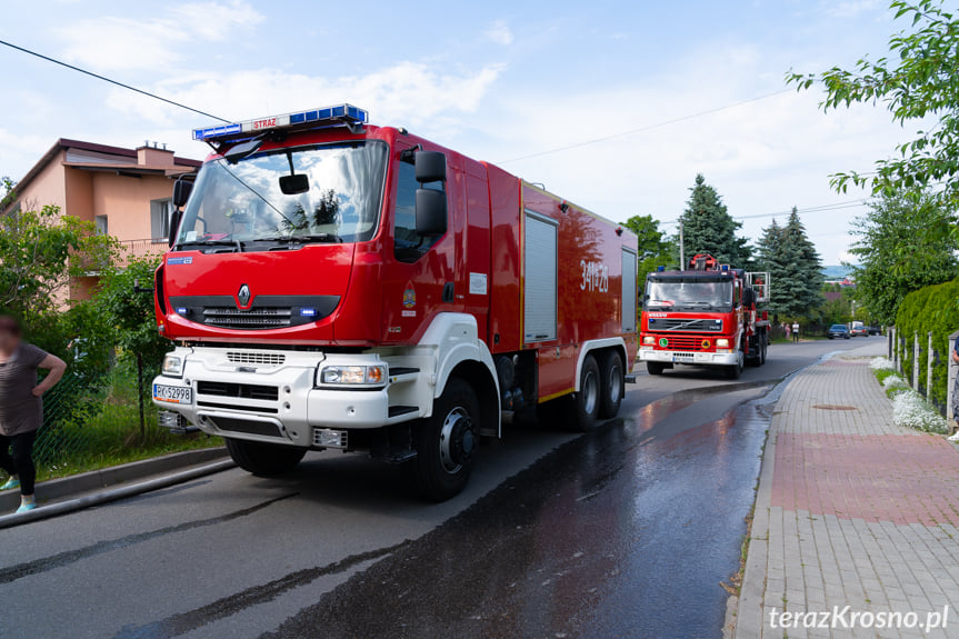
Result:
M37 367L44 359L46 351L21 343L13 357L0 363L0 435L31 432L43 423L43 401L32 391Z

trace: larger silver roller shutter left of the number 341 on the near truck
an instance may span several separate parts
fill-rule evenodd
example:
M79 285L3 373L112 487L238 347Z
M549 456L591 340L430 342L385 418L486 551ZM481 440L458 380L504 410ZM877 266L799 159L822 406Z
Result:
M556 339L557 227L549 218L526 212L523 341Z

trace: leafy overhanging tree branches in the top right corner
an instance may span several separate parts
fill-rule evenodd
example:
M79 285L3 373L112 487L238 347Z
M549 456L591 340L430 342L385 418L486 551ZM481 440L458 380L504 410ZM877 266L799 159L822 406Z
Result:
M836 173L832 186L871 187L873 196L892 196L917 186L937 186L938 197L959 201L959 19L942 0L890 3L908 30L889 40L889 54L862 58L853 69L787 74L799 90L821 86L825 111L853 102L882 102L900 124L933 118L935 126L899 144L899 157L876 162L875 173Z

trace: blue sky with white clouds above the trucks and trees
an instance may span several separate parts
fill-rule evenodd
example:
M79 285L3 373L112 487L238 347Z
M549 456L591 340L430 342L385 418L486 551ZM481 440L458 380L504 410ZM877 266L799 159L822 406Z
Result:
M909 131L881 107L823 114L783 76L878 57L903 26L878 0L12 0L0 39L227 119L349 101L615 220L675 220L697 172L752 238L761 216L850 202L803 214L837 263L866 194L829 173L869 170ZM3 47L0 64L0 174L60 137L206 154L201 116Z

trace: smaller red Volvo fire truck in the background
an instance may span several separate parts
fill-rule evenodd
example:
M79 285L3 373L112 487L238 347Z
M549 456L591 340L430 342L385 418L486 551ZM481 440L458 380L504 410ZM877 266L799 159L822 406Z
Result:
M745 362L766 363L769 273L745 272L697 254L683 271L662 268L646 278L639 359L650 375L677 363L720 367L739 378Z

